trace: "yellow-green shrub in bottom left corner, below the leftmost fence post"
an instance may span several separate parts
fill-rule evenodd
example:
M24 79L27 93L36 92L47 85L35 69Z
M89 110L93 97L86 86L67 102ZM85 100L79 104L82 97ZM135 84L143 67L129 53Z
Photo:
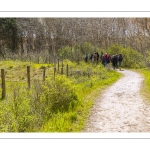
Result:
M32 114L26 89L13 84L13 93L0 103L1 132L29 132L33 129L35 116Z

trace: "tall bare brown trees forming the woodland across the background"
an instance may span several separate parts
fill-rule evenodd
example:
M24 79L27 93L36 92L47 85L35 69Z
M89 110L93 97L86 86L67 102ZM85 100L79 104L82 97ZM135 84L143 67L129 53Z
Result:
M57 56L65 46L82 43L106 49L121 44L147 54L150 18L0 18L0 55Z

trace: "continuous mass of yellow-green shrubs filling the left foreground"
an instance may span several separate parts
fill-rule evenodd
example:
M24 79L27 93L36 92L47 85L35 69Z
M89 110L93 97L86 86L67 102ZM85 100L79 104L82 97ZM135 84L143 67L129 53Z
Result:
M8 100L0 103L0 131L39 130L52 113L72 111L77 102L77 94L65 76L57 76L55 81L48 80L44 84L34 81L31 91L13 84Z

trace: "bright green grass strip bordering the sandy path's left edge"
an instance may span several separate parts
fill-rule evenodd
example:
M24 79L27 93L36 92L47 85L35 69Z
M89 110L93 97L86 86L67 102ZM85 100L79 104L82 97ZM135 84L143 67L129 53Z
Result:
M106 79L95 79L89 82L77 84L77 95L80 103L76 110L65 113L59 113L54 120L49 120L41 131L44 132L80 132L84 128L90 108L94 104L96 97L108 86L116 82L122 75L111 71ZM90 83L93 83L91 85ZM55 123L54 123L55 122ZM55 126L53 126L55 124Z

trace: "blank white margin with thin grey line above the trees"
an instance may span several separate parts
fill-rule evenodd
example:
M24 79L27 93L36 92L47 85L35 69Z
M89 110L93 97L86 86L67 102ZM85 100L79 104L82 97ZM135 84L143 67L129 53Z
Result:
M4 0L0 2L0 17L150 17L149 11L148 0Z

